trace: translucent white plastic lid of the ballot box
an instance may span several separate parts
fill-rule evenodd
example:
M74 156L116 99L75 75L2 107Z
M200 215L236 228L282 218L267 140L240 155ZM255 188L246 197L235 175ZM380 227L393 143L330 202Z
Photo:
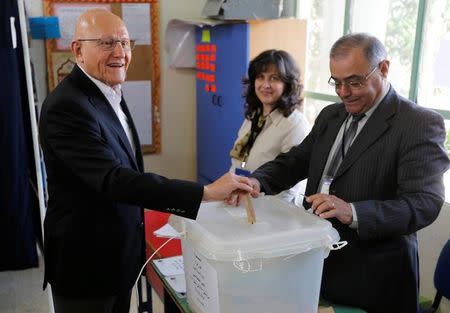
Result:
M339 234L325 219L275 196L252 199L256 223L246 210L223 202L204 202L196 220L172 215L169 224L204 257L217 261L274 258L323 248L328 256Z

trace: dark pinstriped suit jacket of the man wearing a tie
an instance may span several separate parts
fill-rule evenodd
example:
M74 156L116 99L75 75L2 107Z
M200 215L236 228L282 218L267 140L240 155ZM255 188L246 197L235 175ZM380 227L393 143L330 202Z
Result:
M317 193L346 116L342 103L323 109L300 145L253 173L263 191L277 193L308 178L306 195ZM325 299L369 313L417 311L416 231L436 219L444 201L444 139L439 114L389 90L330 186L330 194L354 204L358 231L331 219L348 245L325 259Z

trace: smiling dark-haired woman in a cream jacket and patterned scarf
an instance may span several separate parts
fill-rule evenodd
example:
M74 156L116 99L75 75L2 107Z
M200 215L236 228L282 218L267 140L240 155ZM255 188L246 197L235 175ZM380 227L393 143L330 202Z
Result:
M310 131L302 104L300 71L286 51L266 50L250 61L244 98L245 120L230 151L230 171L247 175L302 142ZM281 192L282 199L301 205L304 182Z

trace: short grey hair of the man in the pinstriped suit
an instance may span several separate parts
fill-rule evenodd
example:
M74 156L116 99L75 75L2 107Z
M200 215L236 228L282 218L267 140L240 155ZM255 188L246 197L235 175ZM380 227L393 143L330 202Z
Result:
M372 66L387 58L386 49L378 38L366 33L354 33L342 36L333 44L330 59L346 57L354 48L361 48Z

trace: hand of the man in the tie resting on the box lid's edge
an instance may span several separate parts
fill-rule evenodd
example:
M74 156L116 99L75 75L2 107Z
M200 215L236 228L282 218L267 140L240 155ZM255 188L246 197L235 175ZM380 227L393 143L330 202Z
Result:
M306 197L311 203L314 214L322 218L337 218L342 224L350 225L353 221L352 207L344 200L324 193L316 193Z

